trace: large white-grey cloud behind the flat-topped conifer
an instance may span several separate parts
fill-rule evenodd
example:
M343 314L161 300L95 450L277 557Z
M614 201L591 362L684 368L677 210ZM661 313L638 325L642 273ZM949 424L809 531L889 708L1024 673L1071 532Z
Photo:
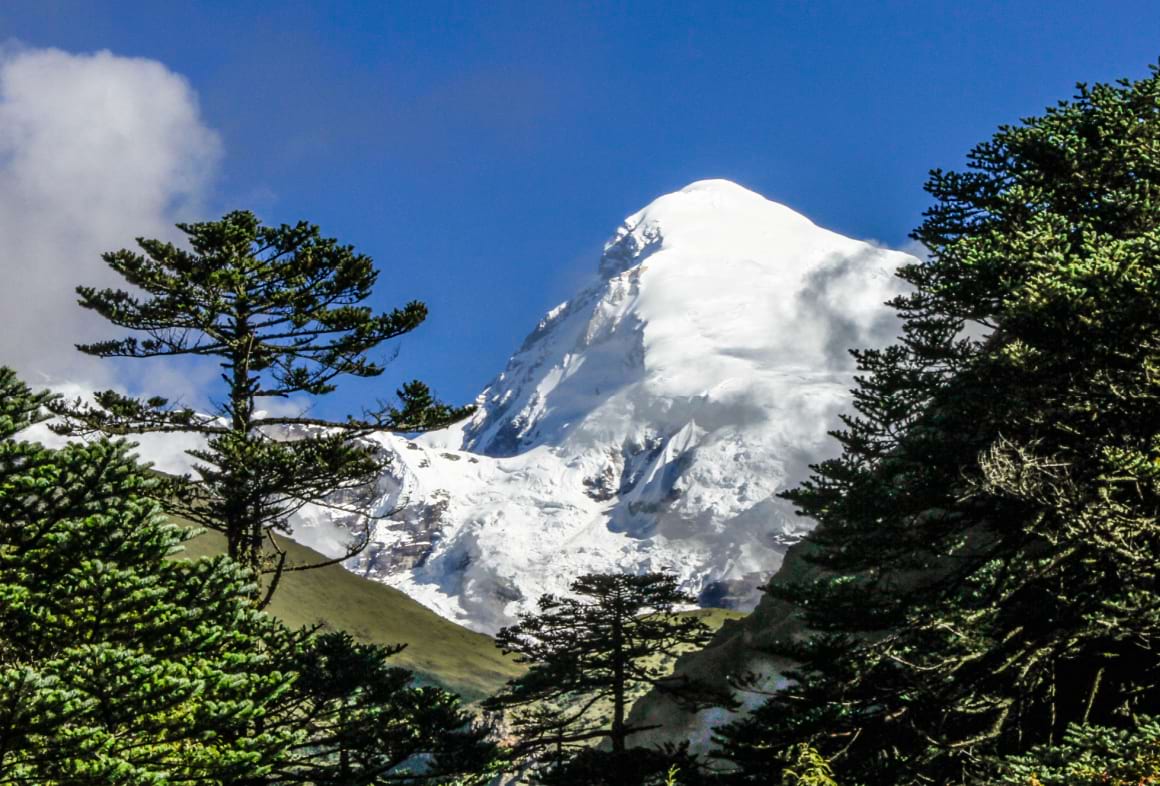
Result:
M32 385L111 384L108 362L73 344L117 328L74 288L118 285L102 252L196 216L219 152L194 90L160 63L0 49L0 363Z

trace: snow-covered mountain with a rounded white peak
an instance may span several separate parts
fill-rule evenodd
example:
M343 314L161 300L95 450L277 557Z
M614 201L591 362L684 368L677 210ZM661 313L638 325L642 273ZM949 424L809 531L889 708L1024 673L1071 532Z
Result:
M849 347L884 344L905 254L713 180L625 219L466 422L391 456L348 567L485 632L590 572L669 570L752 607L805 522L777 492L834 451ZM313 511L296 537L341 538Z

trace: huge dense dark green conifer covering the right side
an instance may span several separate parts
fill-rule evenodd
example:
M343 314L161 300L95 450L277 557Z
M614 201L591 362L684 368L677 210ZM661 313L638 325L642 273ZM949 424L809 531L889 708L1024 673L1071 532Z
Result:
M740 780L810 742L842 781L964 783L1160 706L1158 151L1153 71L933 173L902 342L855 354L843 453L786 495L825 576L778 590L813 635L724 730Z

